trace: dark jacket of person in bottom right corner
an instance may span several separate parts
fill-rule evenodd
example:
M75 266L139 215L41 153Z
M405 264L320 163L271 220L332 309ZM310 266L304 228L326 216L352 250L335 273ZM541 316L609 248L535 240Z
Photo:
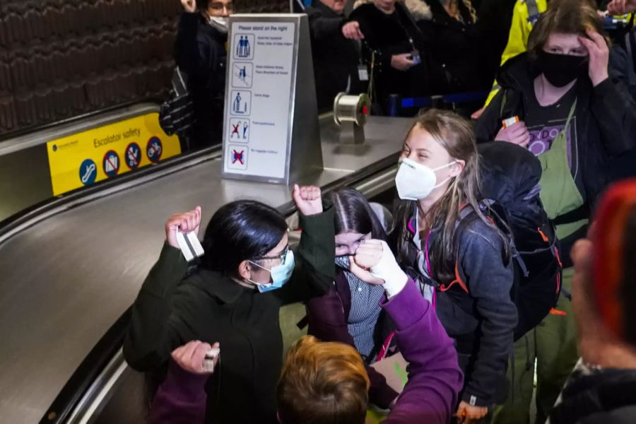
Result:
M575 371L549 423L636 423L636 370Z

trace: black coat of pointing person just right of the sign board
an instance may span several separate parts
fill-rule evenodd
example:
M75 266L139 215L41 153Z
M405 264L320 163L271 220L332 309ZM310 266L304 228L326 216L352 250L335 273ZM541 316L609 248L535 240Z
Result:
M312 6L305 8L305 13L312 37L318 111L327 112L334 107L336 95L347 90L350 78L350 93L362 91L358 78L360 55L355 42L342 35L342 27L347 22L345 16L332 11L320 0L314 0Z

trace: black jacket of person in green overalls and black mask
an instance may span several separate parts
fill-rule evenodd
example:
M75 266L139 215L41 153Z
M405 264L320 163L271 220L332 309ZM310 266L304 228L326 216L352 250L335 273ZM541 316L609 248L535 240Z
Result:
M528 54L520 54L507 61L497 78L503 89L476 122L478 143L493 141L501 129L502 119L518 116L524 120L524 110L534 98L534 79L539 74ZM620 75L610 68L610 77L596 87L591 85L587 76L582 76L575 90L576 134L579 141L577 158L583 174L583 198L587 199L587 204L573 211L576 216L565 222L590 216L597 196L608 184L608 165L613 158L624 155L636 145L636 104L621 82ZM580 232L560 240L563 252L561 259L565 266L572 263L569 252L574 242L584 235Z

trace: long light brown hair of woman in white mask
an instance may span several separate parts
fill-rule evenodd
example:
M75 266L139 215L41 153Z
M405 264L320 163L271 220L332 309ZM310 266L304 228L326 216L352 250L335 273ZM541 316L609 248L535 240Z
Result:
M413 129L419 127L430 134L449 155L456 160L464 160L464 170L457 177L449 180L448 188L442 197L425 213L424 220L427 232L430 229L440 231L430 245L430 263L432 278L439 283L454 280L454 268L457 261L457 240L455 240L456 224L459 211L463 207L471 207L484 223L489 225L502 239L508 249L507 239L481 212L479 199L479 155L475 136L469 122L453 112L444 110L428 110L417 118L406 134L408 141ZM409 244L412 242L408 222L417 207L416 201L400 201L396 213L396 248L398 260L403 265L408 261ZM506 255L508 252L506 252Z

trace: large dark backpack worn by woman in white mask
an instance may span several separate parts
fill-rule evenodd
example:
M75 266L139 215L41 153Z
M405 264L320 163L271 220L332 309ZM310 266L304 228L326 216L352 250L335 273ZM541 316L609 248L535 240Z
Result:
M546 317L555 307L561 291L558 240L539 198L541 163L527 149L494 141L478 146L481 159L481 211L507 235L514 262L511 293L517 305L518 322L514 340ZM462 211L464 212L464 211ZM466 208L460 213L457 234L477 213ZM457 278L461 281L459 266Z

